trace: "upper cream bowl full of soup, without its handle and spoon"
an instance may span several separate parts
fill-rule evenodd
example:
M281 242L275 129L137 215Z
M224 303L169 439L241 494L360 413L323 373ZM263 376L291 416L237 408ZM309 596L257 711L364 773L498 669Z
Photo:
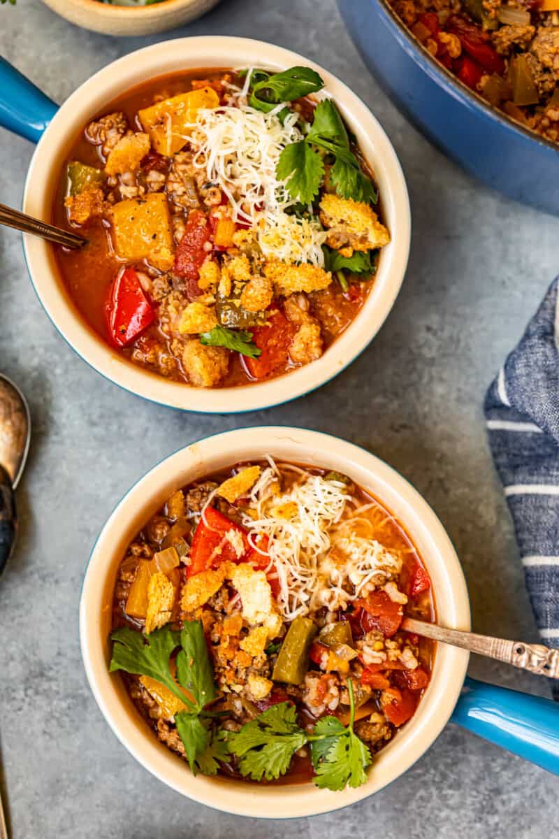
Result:
M88 239L24 241L70 346L133 393L205 412L340 373L409 252L406 184L375 117L327 71L245 39L155 44L86 81L39 141L23 208Z

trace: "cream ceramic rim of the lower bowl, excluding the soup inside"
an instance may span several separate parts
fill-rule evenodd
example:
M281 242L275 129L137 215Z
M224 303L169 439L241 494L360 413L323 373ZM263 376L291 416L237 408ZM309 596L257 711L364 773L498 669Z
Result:
M397 472L369 452L316 431L260 427L227 431L176 452L142 477L102 529L85 572L80 602L80 640L91 690L116 737L145 769L182 795L241 816L282 819L313 816L355 803L409 769L448 722L463 684L468 653L439 644L431 683L417 712L375 757L367 782L331 792L313 784L261 786L190 773L159 743L140 717L119 675L108 671L107 642L116 570L138 529L179 487L237 461L270 454L344 472L379 498L405 525L431 576L437 618L443 626L469 629L468 592L453 545L432 509Z

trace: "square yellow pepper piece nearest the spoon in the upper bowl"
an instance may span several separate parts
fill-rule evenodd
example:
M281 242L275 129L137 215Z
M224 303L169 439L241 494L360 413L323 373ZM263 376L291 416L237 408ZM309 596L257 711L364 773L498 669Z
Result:
M119 257L127 262L147 259L150 265L162 271L171 268L173 232L163 192L119 201L112 208L111 217L114 246Z

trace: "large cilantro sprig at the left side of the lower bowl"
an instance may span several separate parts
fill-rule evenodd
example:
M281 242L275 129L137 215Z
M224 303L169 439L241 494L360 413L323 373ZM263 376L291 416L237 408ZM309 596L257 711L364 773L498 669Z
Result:
M185 621L180 633L166 626L148 636L122 627L111 633L111 639L114 643L109 670L151 676L178 696L188 710L175 714L174 721L190 769L194 774L198 769L204 774L215 774L216 761L225 756L225 744L210 735L210 715L204 711L217 694L201 621ZM178 647L175 681L169 661ZM189 691L191 699L179 685Z

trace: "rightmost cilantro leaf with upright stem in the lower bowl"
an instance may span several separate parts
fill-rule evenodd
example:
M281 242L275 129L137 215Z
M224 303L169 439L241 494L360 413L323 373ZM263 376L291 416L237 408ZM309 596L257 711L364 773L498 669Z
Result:
M314 783L321 789L344 789L346 784L358 787L367 778L365 769L371 763L370 751L353 730L355 720L355 701L353 682L348 680L349 691L349 726L343 727L336 717L323 717L317 723L315 736L321 740L311 743L316 779Z

